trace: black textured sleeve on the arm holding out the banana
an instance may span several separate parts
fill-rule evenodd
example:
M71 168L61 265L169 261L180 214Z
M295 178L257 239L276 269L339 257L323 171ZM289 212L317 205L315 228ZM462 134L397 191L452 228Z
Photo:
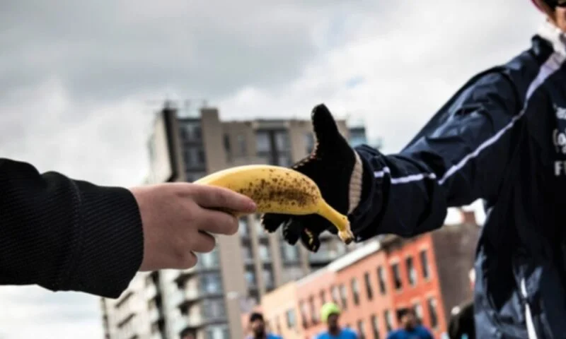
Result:
M143 256L127 189L0 158L0 284L119 297Z

